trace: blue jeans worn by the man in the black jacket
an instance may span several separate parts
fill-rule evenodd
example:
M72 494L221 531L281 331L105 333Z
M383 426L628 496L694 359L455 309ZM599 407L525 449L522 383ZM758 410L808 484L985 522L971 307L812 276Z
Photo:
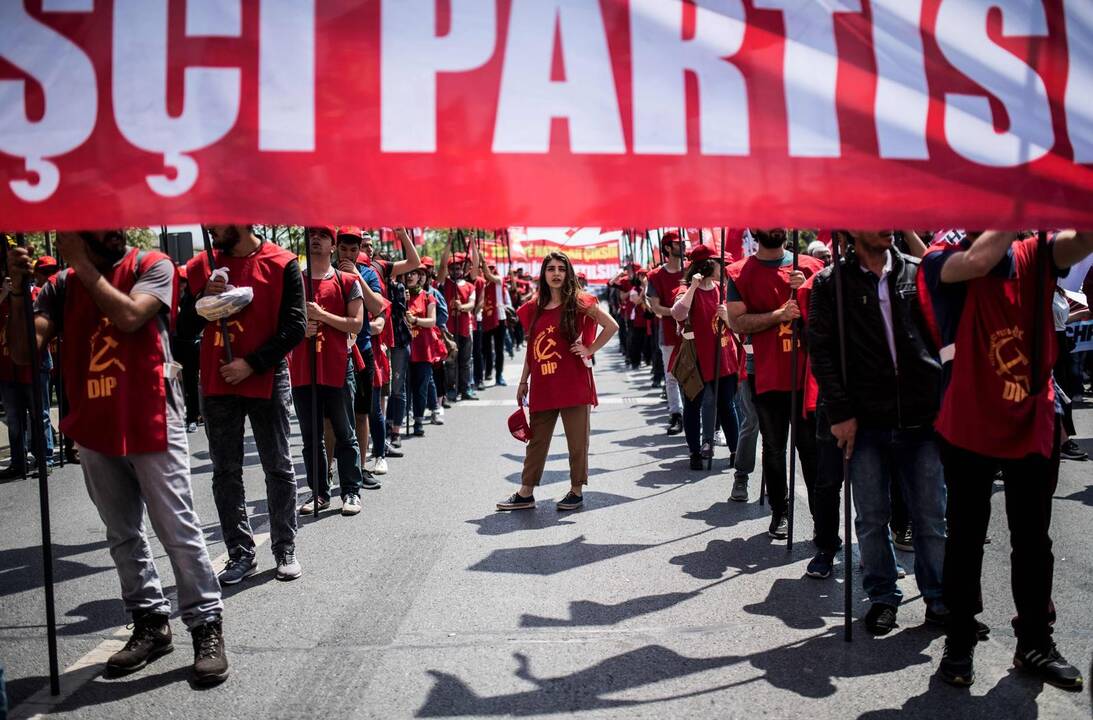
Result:
M873 603L898 605L892 518L892 473L898 473L915 528L915 580L927 604L941 600L945 557L945 481L933 430L859 429L850 458L855 527L865 565L862 587Z

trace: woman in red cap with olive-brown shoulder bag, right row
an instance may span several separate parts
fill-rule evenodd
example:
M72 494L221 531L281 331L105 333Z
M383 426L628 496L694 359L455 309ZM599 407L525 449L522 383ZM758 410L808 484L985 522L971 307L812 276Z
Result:
M708 245L698 245L691 250L690 260L691 264L683 274L683 284L675 292L672 317L679 322L689 322L686 330L694 334L698 369L705 382L702 393L694 400L683 393L683 432L691 451L691 470L702 470L714 452L715 356L720 362L717 375L720 378L717 383L717 422L725 433L729 451L732 455L737 452L737 412L733 400L741 368L741 349L728 326L728 310L718 282L724 268L717 250ZM720 352L717 351L718 342ZM670 365L675 365L674 354Z

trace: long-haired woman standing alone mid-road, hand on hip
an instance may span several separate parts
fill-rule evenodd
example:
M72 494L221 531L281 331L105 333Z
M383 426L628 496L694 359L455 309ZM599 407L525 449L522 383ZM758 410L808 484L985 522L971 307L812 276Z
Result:
M516 391L516 404L530 410L531 440L524 459L520 489L497 503L498 510L533 508L551 436L559 416L569 447L569 492L559 510L581 506L588 484L589 415L596 401L592 355L619 330L596 298L580 292L573 263L551 252L539 271L539 294L517 311L527 331L528 352ZM596 326L602 329L596 334ZM530 386L529 386L530 380Z

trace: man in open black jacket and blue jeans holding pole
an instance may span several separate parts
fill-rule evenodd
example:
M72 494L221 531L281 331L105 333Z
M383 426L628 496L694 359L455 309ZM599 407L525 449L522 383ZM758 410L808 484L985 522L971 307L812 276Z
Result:
M854 232L843 263L846 322L844 381L836 327L833 269L815 276L808 312L809 357L820 385L818 425L849 459L857 510L862 583L872 606L871 635L896 627L903 601L889 532L890 488L906 495L914 521L915 580L926 619L942 624L941 568L945 548L945 485L935 440L941 364L915 291L918 260L892 247L892 233ZM837 238L836 238L837 241ZM900 482L892 483L893 474ZM842 474L820 472L814 488L819 554L810 575L831 575L838 551ZM831 524L831 520L834 524Z

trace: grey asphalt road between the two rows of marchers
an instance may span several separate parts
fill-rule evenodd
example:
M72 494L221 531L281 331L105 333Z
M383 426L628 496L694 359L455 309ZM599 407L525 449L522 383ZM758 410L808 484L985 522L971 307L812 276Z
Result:
M727 451L714 473L689 471L646 373L623 370L611 349L597 375L603 404L592 415L584 510L560 515L549 503L568 476L557 437L539 507L494 511L518 484L522 447L505 428L514 388L491 388L483 402L451 410L447 425L408 440L407 458L391 460L360 516L302 520L302 579L275 581L268 544L259 550L260 574L226 598L233 675L208 691L187 682L192 654L177 618L175 653L128 677L99 676L96 662L124 641L127 617L102 524L79 469L67 468L50 480L68 669L62 699L50 700L38 496L33 483L0 485L0 664L14 717L1090 717L1089 689L1065 693L1011 668L1001 493L984 573L982 618L994 632L977 650L975 686L956 691L932 677L942 639L924 625L913 576L903 581L901 628L885 638L861 627L868 605L856 588L855 640L844 642L842 565L830 580L804 577L810 544L787 555L766 536L757 474L752 501L729 503ZM1082 437L1093 436L1093 411L1080 410L1078 422ZM207 444L190 438L198 512L218 557ZM247 462L262 532L252 445ZM811 523L800 492L797 503L800 536ZM1086 681L1091 508L1093 462L1065 462L1054 520L1056 638ZM913 570L913 557L902 560Z

